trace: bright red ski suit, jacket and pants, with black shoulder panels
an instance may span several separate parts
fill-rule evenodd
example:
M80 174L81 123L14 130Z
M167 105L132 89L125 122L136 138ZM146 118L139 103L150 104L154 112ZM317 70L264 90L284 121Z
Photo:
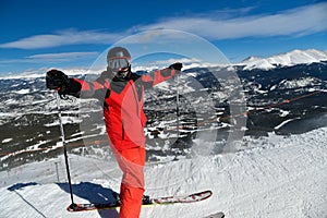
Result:
M174 70L164 69L150 75L131 73L129 78L116 78L105 71L92 83L74 78L82 85L80 97L94 97L104 101L104 116L110 146L123 171L120 218L136 218L141 213L144 193L144 126L146 124L143 110L144 90L171 78L174 73Z

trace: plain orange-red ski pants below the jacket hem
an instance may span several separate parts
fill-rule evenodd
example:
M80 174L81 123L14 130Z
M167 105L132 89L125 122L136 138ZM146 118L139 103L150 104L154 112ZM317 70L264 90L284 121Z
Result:
M145 148L135 147L116 152L116 159L123 172L120 187L119 218L138 218L144 193Z

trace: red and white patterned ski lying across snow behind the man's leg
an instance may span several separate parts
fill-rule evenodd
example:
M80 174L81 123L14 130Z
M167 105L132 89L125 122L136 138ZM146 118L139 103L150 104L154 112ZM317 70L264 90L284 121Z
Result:
M142 206L153 206L153 205L170 205L170 204L182 204L182 203L195 203L209 198L213 192L207 190L198 193L193 193L184 196L166 196L166 197L155 197L147 201L143 201ZM120 207L119 203L105 203L105 204L72 204L66 209L69 211L87 211L87 210L99 210L99 209L118 209Z

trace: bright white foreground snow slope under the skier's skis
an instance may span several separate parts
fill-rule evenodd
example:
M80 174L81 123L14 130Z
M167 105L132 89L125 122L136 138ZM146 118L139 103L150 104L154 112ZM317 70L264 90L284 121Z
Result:
M244 137L234 154L147 165L146 194L182 195L210 189L214 195L199 203L144 207L141 217L198 218L219 210L229 218L327 217L326 134L327 128L323 128L287 137ZM43 166L61 160L12 170L19 183L0 187L0 217L118 217L116 210L68 213L66 183L36 182L47 177ZM106 201L119 190L117 166L77 156L70 160L75 202ZM83 168L77 167L80 161ZM102 178L97 174L99 169L107 170ZM0 175L7 180L5 173ZM86 175L88 180L84 180Z

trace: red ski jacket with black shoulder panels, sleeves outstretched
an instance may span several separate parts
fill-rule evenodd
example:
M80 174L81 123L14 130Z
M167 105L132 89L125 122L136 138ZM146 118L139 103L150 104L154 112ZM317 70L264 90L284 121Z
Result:
M144 90L174 76L173 69L153 74L131 73L129 78L110 77L105 71L94 82L73 78L81 84L81 98L97 98L104 102L104 117L110 144L117 150L145 146Z

